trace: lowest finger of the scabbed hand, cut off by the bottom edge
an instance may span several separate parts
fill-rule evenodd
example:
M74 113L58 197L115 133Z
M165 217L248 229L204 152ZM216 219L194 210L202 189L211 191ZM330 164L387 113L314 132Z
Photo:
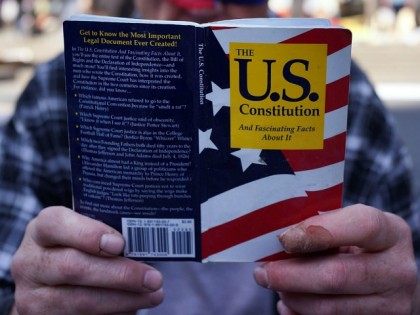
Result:
M282 303L301 315L410 314L410 302L382 295L312 295L282 293ZM287 314L287 313L286 313ZM292 313L293 314L293 313Z

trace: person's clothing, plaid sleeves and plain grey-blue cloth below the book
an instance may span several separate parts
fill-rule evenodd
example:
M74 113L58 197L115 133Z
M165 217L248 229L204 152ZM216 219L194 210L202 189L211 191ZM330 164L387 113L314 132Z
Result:
M364 203L400 215L412 227L415 248L420 249L420 219L410 168L392 118L366 76L353 64L344 203ZM0 314L7 314L14 291L10 264L26 225L45 207L71 207L62 55L38 67L18 100L15 114L1 129L0 196ZM273 310L268 291L258 288L251 274L244 276L244 272L251 272L250 266L160 266L168 280L167 298L162 307L150 311L153 314L165 314L166 310L171 314L262 314ZM185 276L176 280L180 273ZM236 285L229 289L229 283ZM175 292L171 295L172 287ZM238 292L235 287L243 290ZM183 289L191 294L177 295L185 293ZM182 298L185 301L179 300Z

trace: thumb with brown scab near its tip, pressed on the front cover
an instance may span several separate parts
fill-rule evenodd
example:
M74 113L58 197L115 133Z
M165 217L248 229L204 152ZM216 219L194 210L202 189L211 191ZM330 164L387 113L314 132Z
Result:
M402 219L355 205L311 217L287 230L280 241L287 252L308 253L340 246L384 250L400 237Z

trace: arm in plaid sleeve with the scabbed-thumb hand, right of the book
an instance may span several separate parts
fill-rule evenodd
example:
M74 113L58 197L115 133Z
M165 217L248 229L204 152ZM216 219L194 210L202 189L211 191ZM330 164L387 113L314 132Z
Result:
M410 161L389 113L354 64L344 200L351 206L281 237L286 251L313 254L263 265L257 282L280 292L282 314L409 314L416 283L412 238L418 250L420 231Z

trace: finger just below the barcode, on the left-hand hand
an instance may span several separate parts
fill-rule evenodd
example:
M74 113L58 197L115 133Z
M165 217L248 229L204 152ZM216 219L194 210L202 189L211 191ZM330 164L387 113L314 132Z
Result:
M124 258L103 258L69 248L44 250L38 259L37 283L77 285L131 292L151 292L162 287L162 274L146 264Z

